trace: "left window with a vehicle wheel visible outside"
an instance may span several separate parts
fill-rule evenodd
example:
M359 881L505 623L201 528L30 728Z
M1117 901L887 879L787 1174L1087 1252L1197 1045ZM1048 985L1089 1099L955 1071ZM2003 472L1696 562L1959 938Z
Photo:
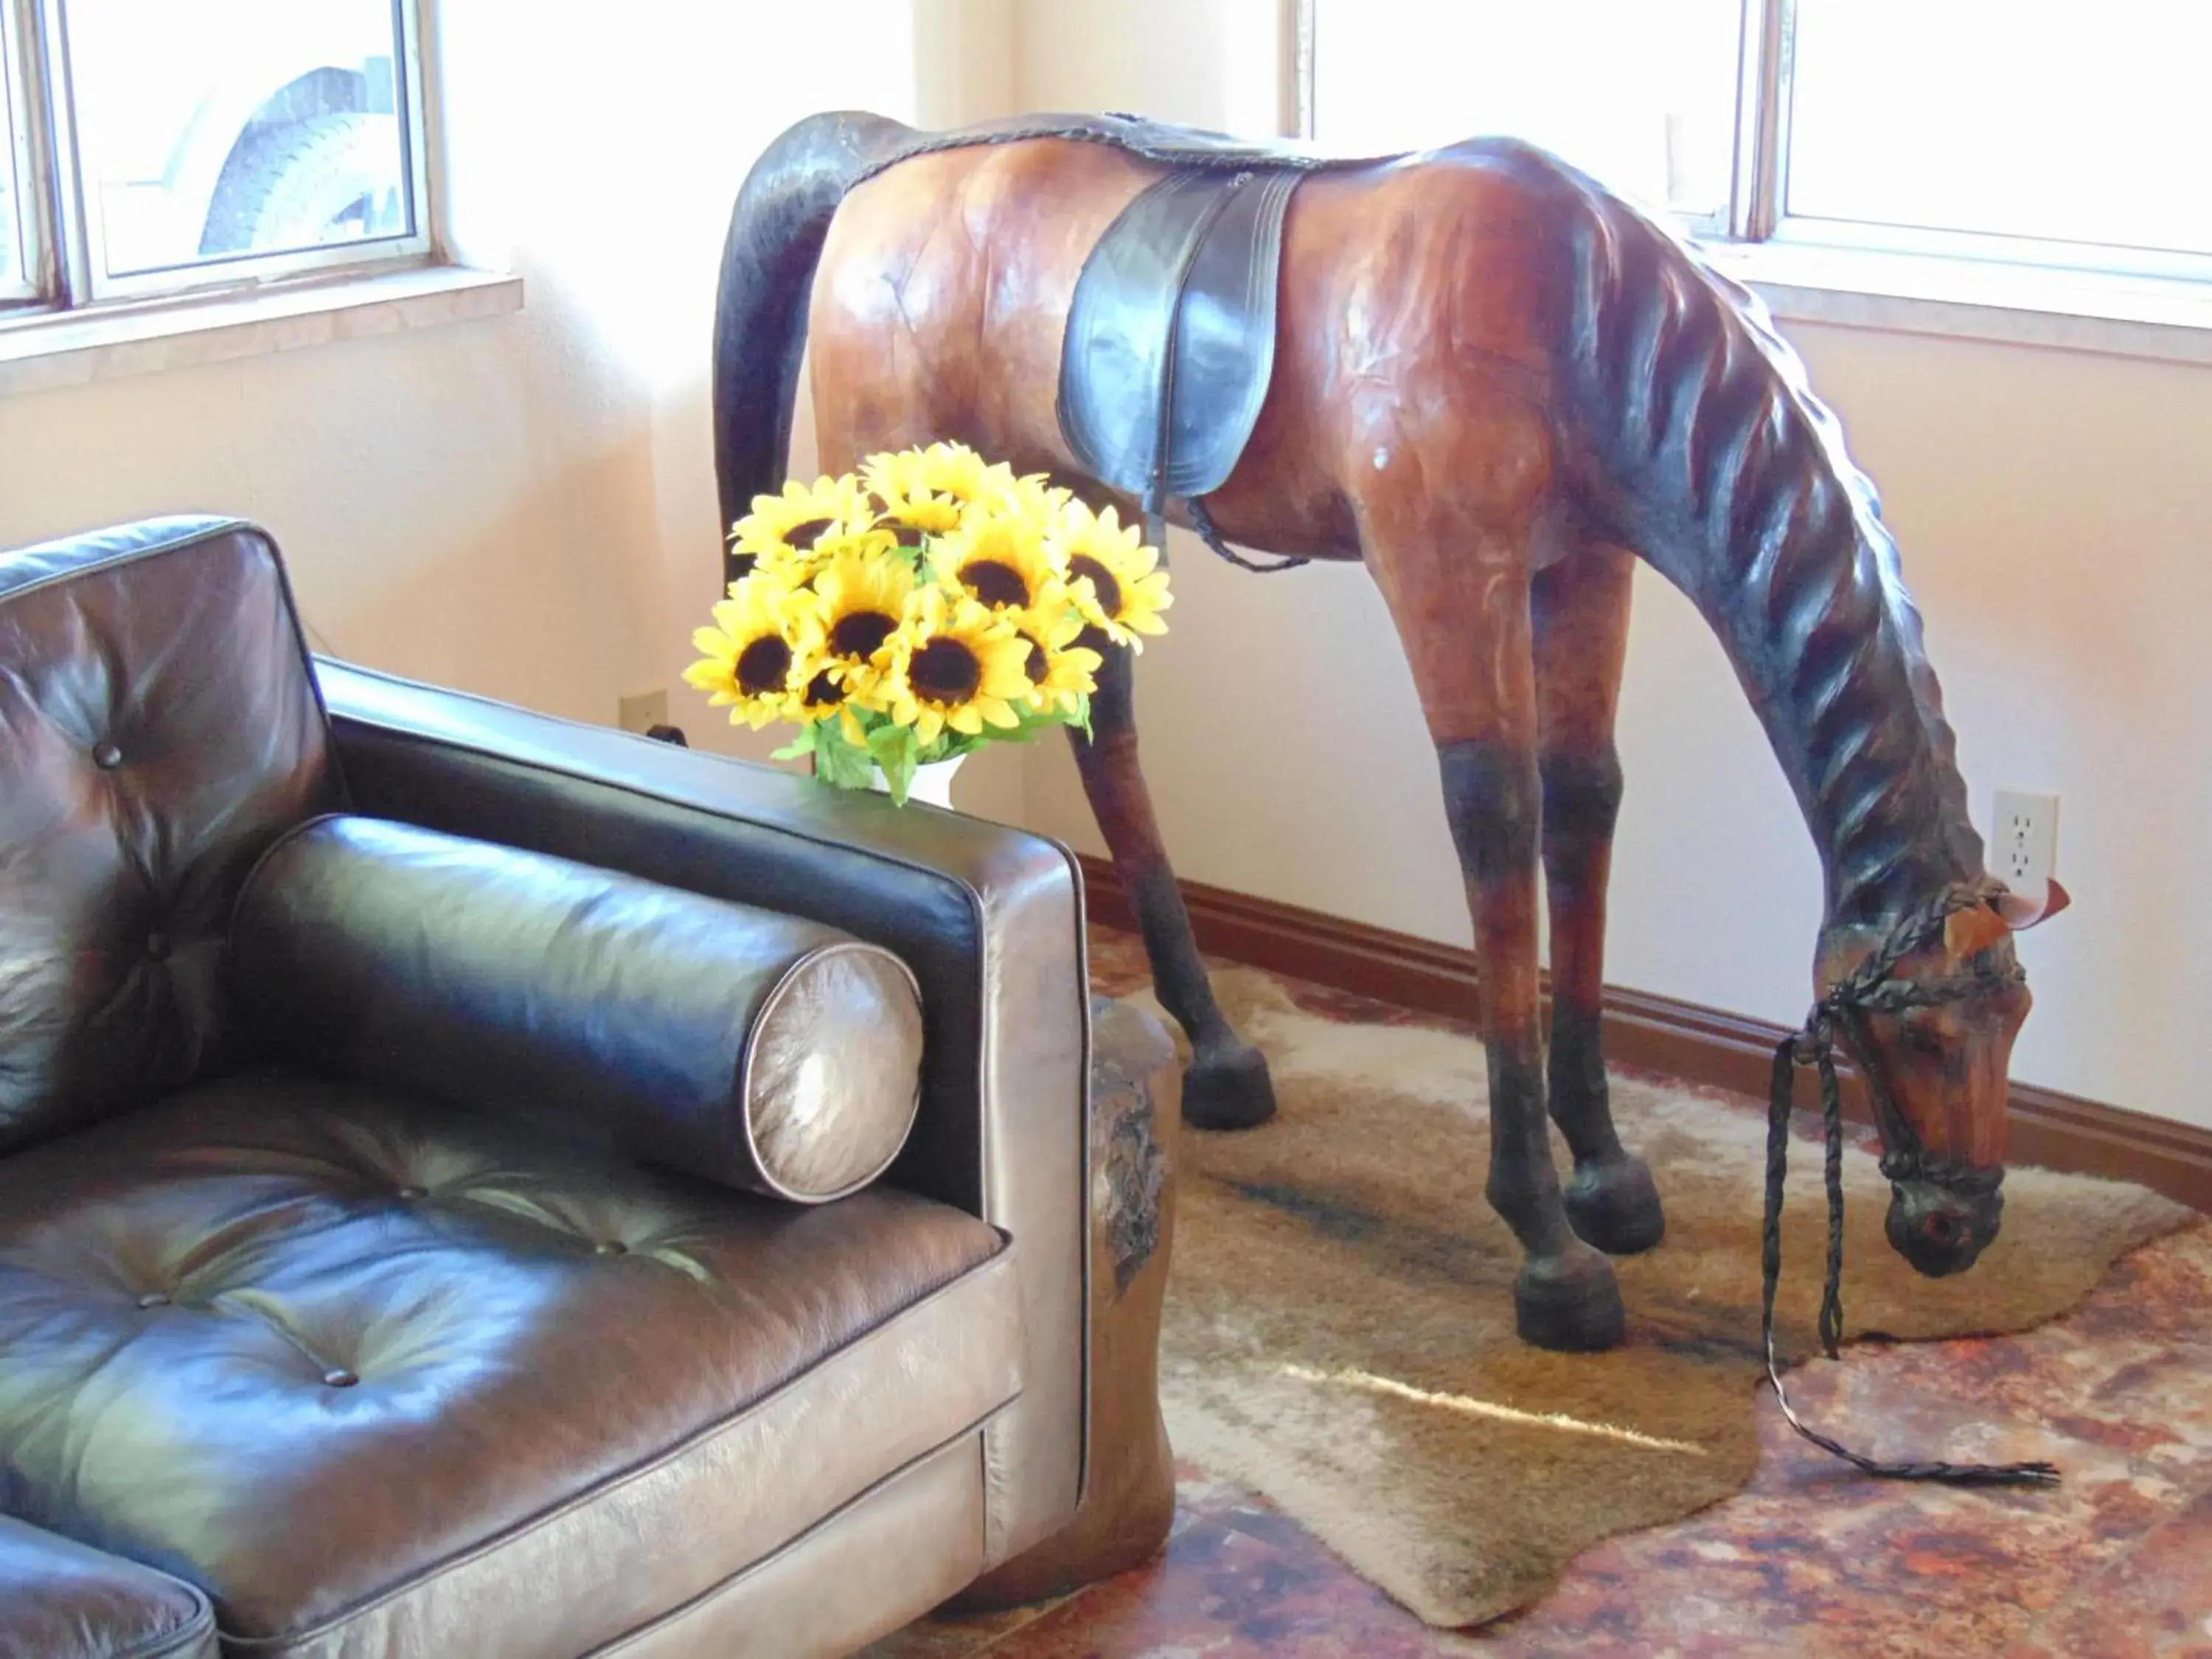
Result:
M0 0L0 323L429 252L414 0Z

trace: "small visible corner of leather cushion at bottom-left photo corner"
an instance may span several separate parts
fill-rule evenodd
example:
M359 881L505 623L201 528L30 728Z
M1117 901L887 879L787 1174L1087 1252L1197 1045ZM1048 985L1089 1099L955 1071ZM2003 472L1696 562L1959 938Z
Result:
M0 1659L215 1659L190 1584L0 1515Z

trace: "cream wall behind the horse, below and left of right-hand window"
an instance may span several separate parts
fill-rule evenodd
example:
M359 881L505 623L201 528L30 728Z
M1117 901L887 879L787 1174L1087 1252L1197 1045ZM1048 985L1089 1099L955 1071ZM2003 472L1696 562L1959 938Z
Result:
M1267 131L1276 7L1029 0L1022 100ZM1254 115L1254 111L1259 111ZM2212 796L2212 372L1792 325L1882 487L1929 619L1975 812L2064 796L2075 909L2024 938L2015 1077L2212 1124L2212 982L2190 880ZM1175 546L1172 633L1139 670L1144 759L1177 869L1464 945L1460 874L1411 681L1369 582L1252 577ZM1608 978L1794 1022L1818 860L1703 624L1639 573L1621 719ZM1031 823L1097 849L1040 752Z

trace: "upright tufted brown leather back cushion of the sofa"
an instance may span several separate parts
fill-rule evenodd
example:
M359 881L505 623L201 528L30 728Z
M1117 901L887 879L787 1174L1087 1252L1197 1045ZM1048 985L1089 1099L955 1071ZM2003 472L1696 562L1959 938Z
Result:
M0 555L0 1155L223 1060L223 927L336 805L276 549L155 520Z

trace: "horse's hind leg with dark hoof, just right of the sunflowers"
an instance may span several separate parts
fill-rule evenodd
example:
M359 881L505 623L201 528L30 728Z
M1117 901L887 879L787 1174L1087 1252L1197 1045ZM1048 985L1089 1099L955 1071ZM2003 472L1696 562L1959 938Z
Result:
M1152 962L1159 1002L1190 1037L1183 1073L1183 1121L1194 1128L1252 1128L1274 1117L1267 1060L1243 1042L1214 1002L1214 987L1190 933L1190 911L1159 843L1152 796L1137 765L1137 703L1128 646L1106 646L1097 692L1091 697L1091 737L1068 730L1084 796L1113 854L1128 894L1144 951Z

